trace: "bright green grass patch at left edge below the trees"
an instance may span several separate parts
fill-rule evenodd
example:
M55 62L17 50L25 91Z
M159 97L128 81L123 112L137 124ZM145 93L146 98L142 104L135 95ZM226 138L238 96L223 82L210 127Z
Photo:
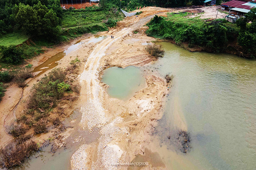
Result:
M0 46L19 45L28 38L22 33L8 33L0 37Z

